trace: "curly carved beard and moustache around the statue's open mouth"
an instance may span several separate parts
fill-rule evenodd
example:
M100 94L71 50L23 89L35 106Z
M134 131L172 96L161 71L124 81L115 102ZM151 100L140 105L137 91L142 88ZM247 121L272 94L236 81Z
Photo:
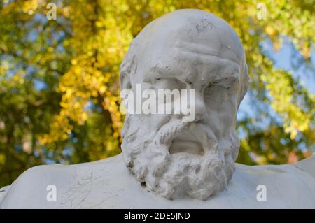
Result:
M127 115L122 132L125 165L143 187L167 199L199 200L225 189L235 171L232 151L239 149L235 132L229 135L229 148L218 148L216 136L203 124L169 117L157 130L146 119L150 117ZM197 132L203 155L169 152L174 137L187 129Z

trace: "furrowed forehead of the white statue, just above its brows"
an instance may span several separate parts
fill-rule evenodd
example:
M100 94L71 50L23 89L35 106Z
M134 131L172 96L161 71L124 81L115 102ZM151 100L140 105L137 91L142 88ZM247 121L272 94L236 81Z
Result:
M151 59L143 63L144 72L139 74L144 75L143 78L178 77L192 81L207 80L217 75L230 78L240 73L240 66L237 55L225 51L216 44L204 45L177 39L164 52L162 50L153 52Z

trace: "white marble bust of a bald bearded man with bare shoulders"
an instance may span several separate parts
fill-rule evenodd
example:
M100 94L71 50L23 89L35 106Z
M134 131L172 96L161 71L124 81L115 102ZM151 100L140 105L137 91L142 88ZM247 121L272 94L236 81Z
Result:
M0 208L315 208L314 156L235 164L248 68L227 22L202 10L168 13L132 41L120 71L122 89L195 89L195 119L127 115L123 154L30 168L0 189ZM48 185L56 201L47 199Z

